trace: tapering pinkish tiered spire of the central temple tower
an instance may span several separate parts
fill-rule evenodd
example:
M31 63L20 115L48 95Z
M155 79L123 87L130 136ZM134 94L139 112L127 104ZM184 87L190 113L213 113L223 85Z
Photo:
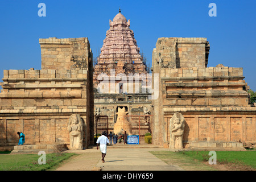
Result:
M97 87L97 76L100 73L110 74L111 69L118 73L147 73L146 63L139 53L134 32L130 30L130 20L119 13L113 21L109 20L109 30L101 48L100 56L94 67L94 88Z

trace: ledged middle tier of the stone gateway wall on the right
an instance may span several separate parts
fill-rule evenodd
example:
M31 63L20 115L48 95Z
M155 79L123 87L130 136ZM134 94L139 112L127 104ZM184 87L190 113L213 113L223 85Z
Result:
M161 69L163 105L173 107L250 107L242 68Z

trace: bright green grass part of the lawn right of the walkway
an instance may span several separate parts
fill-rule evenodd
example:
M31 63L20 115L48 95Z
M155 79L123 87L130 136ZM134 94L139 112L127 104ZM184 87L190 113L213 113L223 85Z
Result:
M208 161L209 151L180 151L177 154L189 156L192 159ZM218 163L233 163L250 166L256 169L256 151L216 151Z

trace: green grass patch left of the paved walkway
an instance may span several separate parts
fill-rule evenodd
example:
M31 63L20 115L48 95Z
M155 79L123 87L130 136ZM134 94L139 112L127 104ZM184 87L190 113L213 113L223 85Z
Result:
M76 154L46 154L46 164L39 165L37 154L0 154L0 171L45 171L73 155Z

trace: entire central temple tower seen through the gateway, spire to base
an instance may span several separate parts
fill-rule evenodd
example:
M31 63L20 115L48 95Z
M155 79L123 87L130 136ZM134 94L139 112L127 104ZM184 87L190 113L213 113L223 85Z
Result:
M152 118L143 114L144 107L148 113L151 110L151 94L143 92L143 85L146 88L149 84L147 67L130 24L120 10L113 21L109 20L110 28L94 66L95 133L115 133L118 108L128 113L121 118L131 125L132 132L127 133L144 135L151 132Z

